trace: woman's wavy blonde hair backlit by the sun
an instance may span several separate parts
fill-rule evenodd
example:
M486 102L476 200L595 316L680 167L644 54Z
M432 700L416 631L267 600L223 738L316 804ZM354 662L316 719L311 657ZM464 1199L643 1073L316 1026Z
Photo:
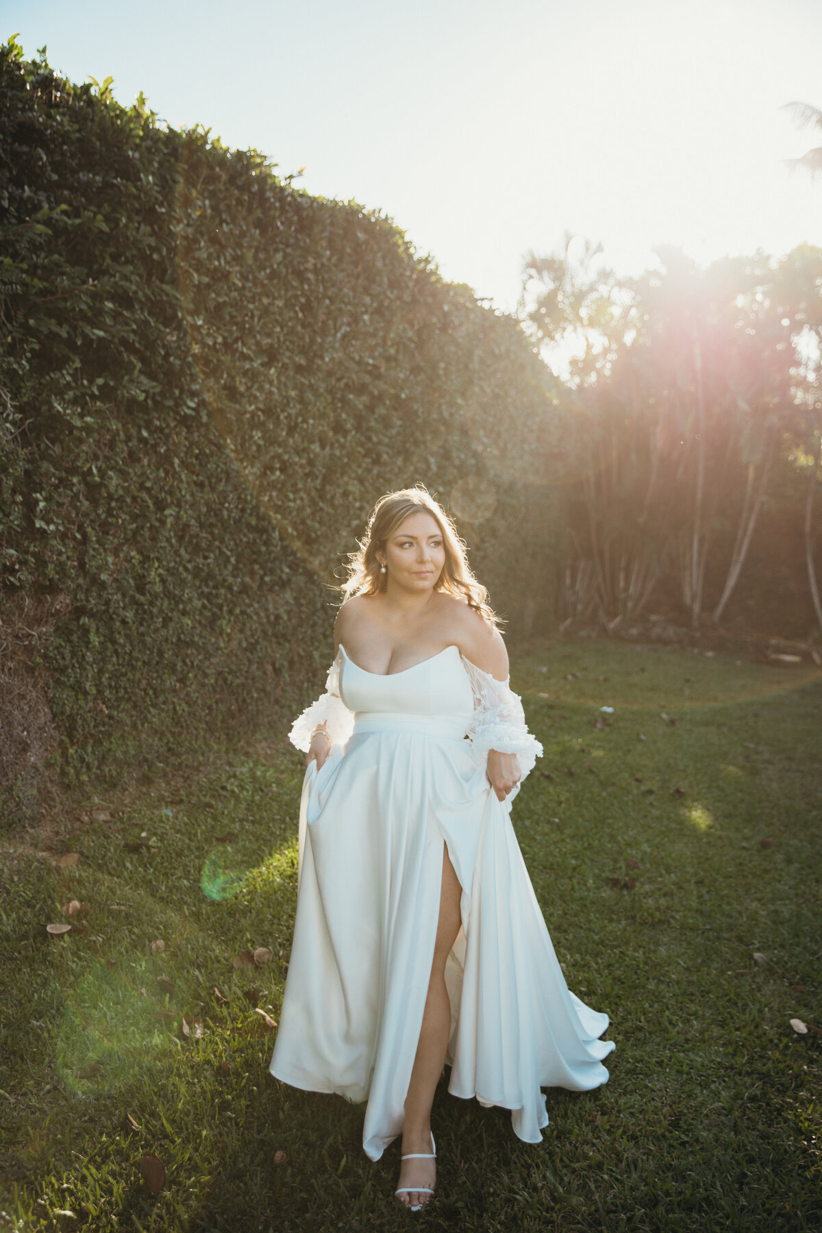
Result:
M388 578L387 575L380 572L377 550L385 550L387 540L399 524L409 514L415 514L420 509L434 518L442 533L445 565L434 584L435 591L446 591L451 596L466 599L468 607L479 613L492 629L498 629L499 618L488 603L488 591L481 582L477 582L468 565L466 555L468 545L457 534L451 517L431 497L423 483L418 483L413 488L387 492L376 503L368 515L365 538L357 540L359 551L348 554L346 570L349 576L340 587L343 603L354 596L376 596L380 591L386 589Z

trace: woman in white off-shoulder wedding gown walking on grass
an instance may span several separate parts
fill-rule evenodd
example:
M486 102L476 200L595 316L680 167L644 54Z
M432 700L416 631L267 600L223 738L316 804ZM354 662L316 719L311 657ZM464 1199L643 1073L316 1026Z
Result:
M350 554L327 689L303 750L298 895L270 1070L367 1100L372 1160L402 1134L412 1211L436 1178L434 1090L511 1110L608 1080L608 1015L566 985L511 824L542 747L465 543L423 488L382 497ZM467 737L467 739L466 739Z

